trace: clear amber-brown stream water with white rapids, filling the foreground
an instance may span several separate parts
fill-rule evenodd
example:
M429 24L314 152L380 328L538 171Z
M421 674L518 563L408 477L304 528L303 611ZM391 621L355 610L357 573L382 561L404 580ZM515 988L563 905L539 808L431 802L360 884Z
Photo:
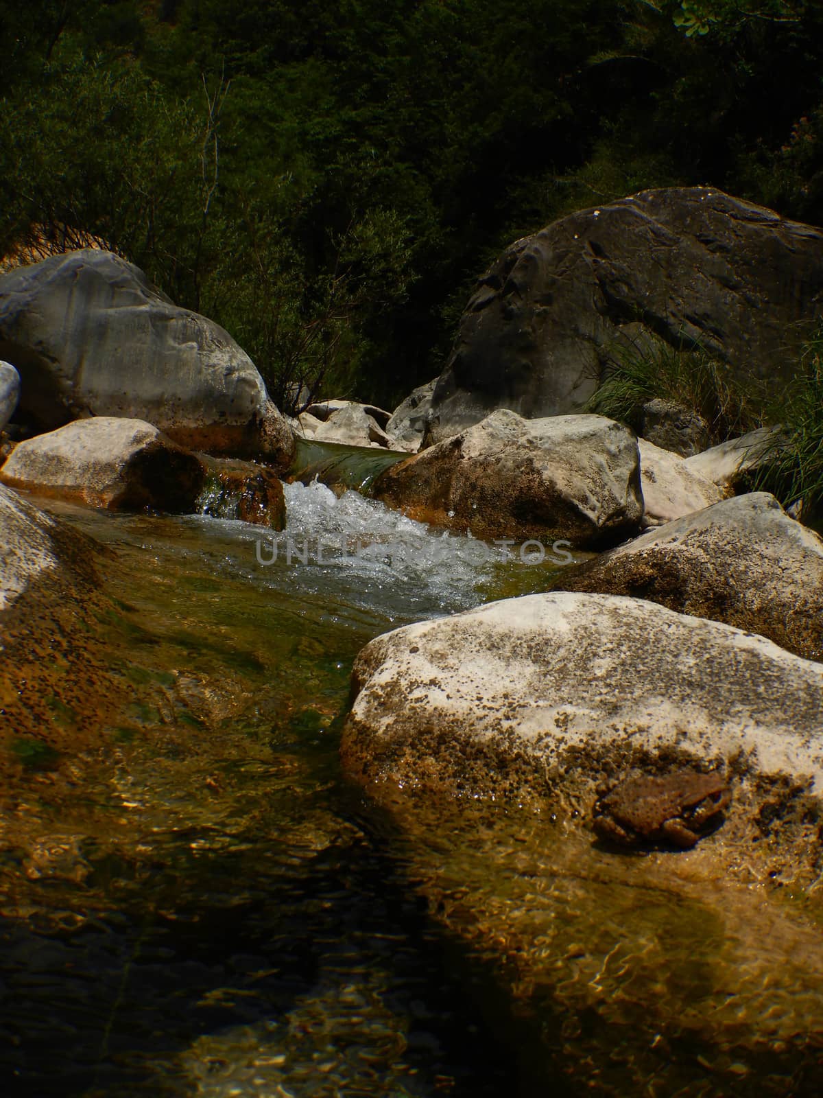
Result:
M116 552L109 642L135 699L7 817L3 1094L819 1094L805 907L346 782L360 647L545 570L286 493L295 544L368 548L260 564L268 535L243 524L50 505Z

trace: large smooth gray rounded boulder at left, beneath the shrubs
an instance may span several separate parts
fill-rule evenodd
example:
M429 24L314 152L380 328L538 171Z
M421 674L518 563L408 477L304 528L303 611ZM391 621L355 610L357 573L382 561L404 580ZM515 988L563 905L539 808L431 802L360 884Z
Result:
M154 424L174 441L288 464L294 442L251 359L109 251L52 256L0 276L0 357L40 430L86 415Z

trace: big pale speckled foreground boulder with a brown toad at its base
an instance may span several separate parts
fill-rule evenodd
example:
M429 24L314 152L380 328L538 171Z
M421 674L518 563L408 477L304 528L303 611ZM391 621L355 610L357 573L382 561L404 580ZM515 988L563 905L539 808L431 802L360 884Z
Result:
M358 656L352 699L342 758L364 783L583 804L604 775L691 765L755 807L774 782L823 792L823 665L640 598L526 595L396 629Z

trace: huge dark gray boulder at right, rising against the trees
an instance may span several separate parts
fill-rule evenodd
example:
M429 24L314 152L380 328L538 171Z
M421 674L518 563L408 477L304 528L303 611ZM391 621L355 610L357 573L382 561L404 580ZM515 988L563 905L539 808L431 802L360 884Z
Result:
M823 233L722 191L643 191L583 210L517 240L480 279L429 437L497 407L577 411L635 322L699 344L740 378L774 378L822 300Z

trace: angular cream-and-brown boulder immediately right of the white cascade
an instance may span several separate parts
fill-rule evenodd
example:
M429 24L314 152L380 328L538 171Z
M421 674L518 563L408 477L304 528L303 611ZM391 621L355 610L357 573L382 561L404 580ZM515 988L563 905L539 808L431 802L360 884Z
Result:
M636 439L597 415L523 419L501 408L392 466L372 495L480 538L575 546L628 537L643 515Z

